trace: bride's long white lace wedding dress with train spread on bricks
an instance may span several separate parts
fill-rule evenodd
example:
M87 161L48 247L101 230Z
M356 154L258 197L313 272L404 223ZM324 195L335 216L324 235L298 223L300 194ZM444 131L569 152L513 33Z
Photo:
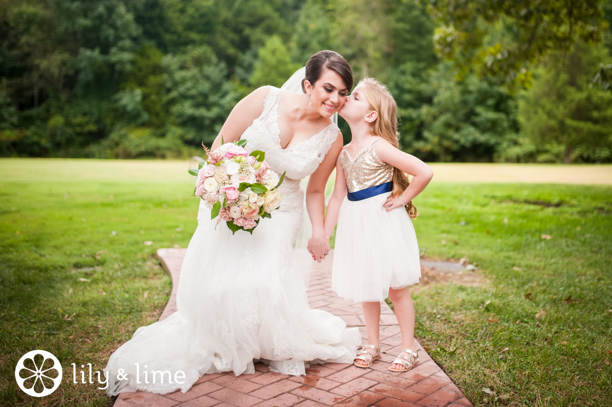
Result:
M292 248L304 220L300 179L323 161L338 127L331 123L307 141L282 149L281 92L270 87L261 116L241 136L248 150L266 152L275 172L286 171L280 208L272 219L262 219L253 235L242 230L232 235L223 222L215 229L217 219L211 220L211 211L200 201L198 227L181 268L178 310L138 328L111 355L105 368L109 395L137 389L186 392L204 373L254 373L253 359L274 372L296 376L314 363L353 362L361 342L359 328L346 328L340 317L310 309ZM184 383L168 383L167 374L160 383L159 373L152 383L151 372L165 370L173 378L177 370L184 372ZM144 383L144 371L149 383ZM126 380L118 380L119 373Z

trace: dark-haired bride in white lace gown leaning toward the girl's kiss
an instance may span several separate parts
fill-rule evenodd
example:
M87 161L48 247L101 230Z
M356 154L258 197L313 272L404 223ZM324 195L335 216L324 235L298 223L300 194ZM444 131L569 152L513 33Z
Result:
M253 359L295 376L314 363L353 362L359 328L310 309L292 248L304 221L300 179L310 175L308 251L319 262L329 251L323 238L324 188L342 147L330 117L345 103L353 74L340 54L320 51L302 75L304 94L264 86L239 101L212 144L213 150L219 147L223 135L226 142L246 139L248 150L266 152L272 170L286 171L280 208L253 235L241 230L232 235L223 225L215 229L217 219L211 220L211 210L200 201L198 227L181 268L178 310L138 328L111 355L104 369L107 394L187 392L205 373L255 373Z

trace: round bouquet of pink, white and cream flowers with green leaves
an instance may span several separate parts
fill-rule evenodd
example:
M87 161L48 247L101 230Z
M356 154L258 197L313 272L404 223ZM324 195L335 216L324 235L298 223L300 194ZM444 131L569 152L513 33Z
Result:
M193 194L211 208L211 219L219 217L217 224L226 221L232 234L236 230L253 234L259 220L272 218L270 213L283 199L277 188L286 172L279 178L264 160L266 153L249 153L245 144L246 140L229 142L211 152L203 143L208 160L189 170L198 177Z

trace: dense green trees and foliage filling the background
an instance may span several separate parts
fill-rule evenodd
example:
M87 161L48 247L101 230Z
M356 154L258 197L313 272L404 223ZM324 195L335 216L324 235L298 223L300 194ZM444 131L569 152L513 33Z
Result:
M561 3L0 0L0 156L193 155L331 49L389 84L424 160L610 162L612 0Z

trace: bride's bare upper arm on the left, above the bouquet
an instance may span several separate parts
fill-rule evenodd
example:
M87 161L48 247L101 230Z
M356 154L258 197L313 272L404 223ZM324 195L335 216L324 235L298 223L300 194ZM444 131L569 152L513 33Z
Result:
M237 141L242 136L247 127L252 125L253 120L257 119L263 111L264 99L268 92L270 92L269 87L259 87L236 103L215 141L212 142L211 150L221 147L221 136L223 136L223 142Z

